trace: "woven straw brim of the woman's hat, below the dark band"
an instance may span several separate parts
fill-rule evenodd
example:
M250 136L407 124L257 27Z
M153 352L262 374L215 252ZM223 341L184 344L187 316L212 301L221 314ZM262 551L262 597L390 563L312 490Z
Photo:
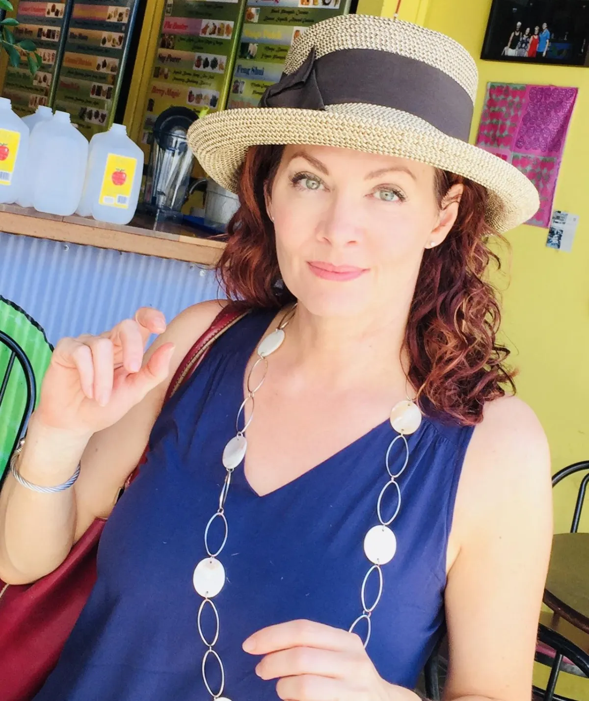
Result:
M412 158L467 177L487 189L485 218L499 233L526 222L539 208L536 188L510 163L445 135L419 117L374 104L337 104L325 111L229 109L198 119L188 140L205 172L233 192L250 147L309 144Z

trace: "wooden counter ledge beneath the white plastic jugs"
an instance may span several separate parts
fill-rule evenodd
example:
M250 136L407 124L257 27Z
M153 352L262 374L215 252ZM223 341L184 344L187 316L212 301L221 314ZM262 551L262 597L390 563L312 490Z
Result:
M0 205L0 231L6 233L174 258L206 266L215 265L224 248L222 241L205 238L204 232L180 224L158 224L157 230L149 228L150 224L144 217L135 217L128 226L117 226L84 217L55 217L17 205Z

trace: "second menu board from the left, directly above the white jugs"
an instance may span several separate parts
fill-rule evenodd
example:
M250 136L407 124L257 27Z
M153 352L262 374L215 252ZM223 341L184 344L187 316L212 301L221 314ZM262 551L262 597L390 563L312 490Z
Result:
M74 0L53 106L88 139L113 121L138 1Z

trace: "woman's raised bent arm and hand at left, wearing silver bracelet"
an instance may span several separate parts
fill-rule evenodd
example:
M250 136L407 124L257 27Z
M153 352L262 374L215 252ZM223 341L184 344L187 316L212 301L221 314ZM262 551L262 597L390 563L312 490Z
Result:
M109 515L119 488L142 456L175 369L220 310L219 303L205 302L178 315L145 353L143 369L137 373L138 380L144 375L141 381L145 391L153 388L147 394L139 392L133 400L131 379L129 396L125 397L119 374L115 389L109 389L111 400L102 408L94 399L84 396L82 388L91 392L99 375L106 381L109 374L112 388L112 352L108 348L104 352L105 342L110 341L85 336L67 339L61 348L56 348L52 358L56 367L50 368L43 379L41 402L29 423L18 470L29 482L44 486L65 482L78 462L81 472L74 486L57 494L30 491L7 475L0 494L0 577L5 582L29 583L53 571L93 519ZM121 336L140 333L133 323L123 322ZM135 338L138 346L135 343L133 351L139 353L139 359L140 340L139 336ZM100 353L97 343L102 348ZM171 360L168 351L162 348L169 343L174 346ZM159 354L158 348L162 348ZM80 349L84 351L83 358L76 355ZM168 369L163 367L162 374L159 362L155 376L156 355L161 360L164 353L168 353L165 361L169 363ZM72 358L77 359L78 367L72 365ZM106 388L104 381L100 382L100 388L94 388L95 395Z

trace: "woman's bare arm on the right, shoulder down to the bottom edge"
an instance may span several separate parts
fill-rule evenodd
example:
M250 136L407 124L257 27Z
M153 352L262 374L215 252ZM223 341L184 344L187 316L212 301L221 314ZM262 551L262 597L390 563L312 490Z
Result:
M553 536L550 454L516 397L485 407L467 451L445 594L445 699L529 701Z

